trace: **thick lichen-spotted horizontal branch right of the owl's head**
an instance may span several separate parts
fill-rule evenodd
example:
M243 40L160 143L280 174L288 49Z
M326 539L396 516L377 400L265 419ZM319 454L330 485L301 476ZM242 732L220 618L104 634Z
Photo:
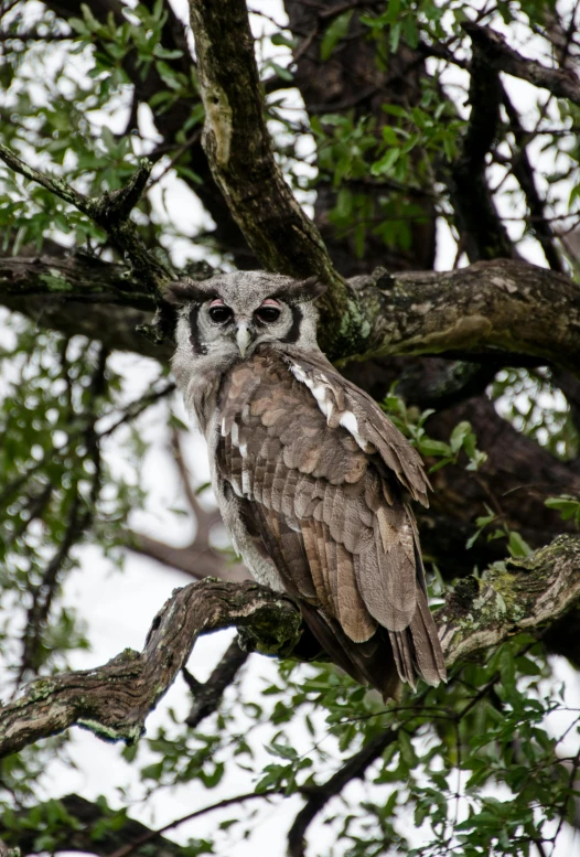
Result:
M528 354L580 367L580 287L527 263L357 278L367 356ZM363 323L363 321L361 321Z

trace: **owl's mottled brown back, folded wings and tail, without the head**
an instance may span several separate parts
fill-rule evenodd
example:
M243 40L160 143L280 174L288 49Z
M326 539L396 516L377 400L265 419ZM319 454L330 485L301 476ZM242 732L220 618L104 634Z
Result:
M411 684L417 675L437 683L444 665L399 485L425 492L416 453L406 452L394 427L377 428L370 408L354 403L361 440L333 419L336 411L324 414L315 395L275 351L235 366L219 403L222 475L336 663L387 696L397 671Z

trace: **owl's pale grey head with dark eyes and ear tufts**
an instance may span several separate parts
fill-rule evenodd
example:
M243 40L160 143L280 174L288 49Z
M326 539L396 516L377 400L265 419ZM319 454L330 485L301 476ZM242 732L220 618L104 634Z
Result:
M236 271L170 287L181 304L180 352L217 360L249 356L262 343L316 347L313 301L325 290L315 277L297 281L266 271Z

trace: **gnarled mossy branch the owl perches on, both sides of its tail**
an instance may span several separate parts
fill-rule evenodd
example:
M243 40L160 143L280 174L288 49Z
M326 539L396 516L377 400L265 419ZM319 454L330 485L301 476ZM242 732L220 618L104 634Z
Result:
M437 613L448 665L561 617L580 600L579 571L580 539L560 536L525 560L491 568L480 582L463 582ZM293 603L265 587L191 583L158 613L141 654L126 650L97 669L39 679L1 708L0 757L75 724L108 740L137 740L196 638L230 625L268 654L288 655L301 634Z

